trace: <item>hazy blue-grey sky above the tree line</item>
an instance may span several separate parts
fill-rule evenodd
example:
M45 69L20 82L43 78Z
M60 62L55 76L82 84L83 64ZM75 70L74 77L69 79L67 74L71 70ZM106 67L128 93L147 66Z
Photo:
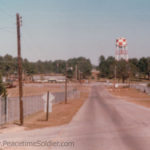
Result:
M17 56L16 13L22 16L22 57L30 61L114 56L125 37L129 57L150 56L150 0L0 0L0 55Z

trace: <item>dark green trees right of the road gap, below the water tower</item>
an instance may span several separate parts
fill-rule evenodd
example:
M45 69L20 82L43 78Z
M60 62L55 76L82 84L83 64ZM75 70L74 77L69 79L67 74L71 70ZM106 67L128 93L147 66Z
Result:
M100 56L98 70L102 78L113 79L116 74L116 78L123 82L128 78L150 80L150 57L131 58L126 62L123 59L116 61L112 56Z

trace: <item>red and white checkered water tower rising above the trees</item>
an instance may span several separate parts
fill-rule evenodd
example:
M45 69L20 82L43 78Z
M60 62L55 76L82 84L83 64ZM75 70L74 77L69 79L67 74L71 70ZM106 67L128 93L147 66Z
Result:
M125 38L119 38L116 40L116 60L124 59L128 61L128 51L127 51L127 40Z

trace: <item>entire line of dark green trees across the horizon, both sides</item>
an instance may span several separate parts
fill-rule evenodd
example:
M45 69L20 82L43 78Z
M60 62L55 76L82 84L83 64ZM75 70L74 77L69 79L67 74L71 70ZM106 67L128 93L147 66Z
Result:
M91 75L91 61L85 57L71 58L55 61L36 61L31 62L27 59L22 59L23 72L26 75L58 73L65 74L67 64L67 74L69 78L73 78L78 68L78 73L82 74L82 78L88 78ZM94 67L95 68L95 67ZM17 74L17 57L11 55L0 56L0 74L8 76ZM131 58L128 62L125 60L116 61L114 57L105 58L100 56L97 70L100 71L100 78L116 78L123 82L128 78L147 79L150 80L150 57L142 57L140 59Z

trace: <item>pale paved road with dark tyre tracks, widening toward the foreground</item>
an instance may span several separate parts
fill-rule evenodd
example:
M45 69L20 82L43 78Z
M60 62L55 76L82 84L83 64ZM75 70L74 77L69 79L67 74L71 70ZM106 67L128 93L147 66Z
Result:
M150 110L118 100L102 86L93 86L89 99L70 124L9 137L2 134L0 139L74 142L74 146L23 148L27 150L150 150Z

